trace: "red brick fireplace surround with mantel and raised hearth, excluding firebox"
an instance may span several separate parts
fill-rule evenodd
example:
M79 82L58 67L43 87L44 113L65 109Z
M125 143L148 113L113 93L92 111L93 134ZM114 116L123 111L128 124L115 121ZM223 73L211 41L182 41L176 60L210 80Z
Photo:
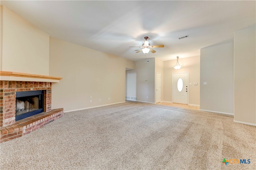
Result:
M7 77L6 77L7 75ZM3 80L7 79L7 80ZM14 80L8 80L14 79ZM63 109L52 110L52 82L61 78L34 74L2 72L0 80L0 142L26 135L63 116ZM24 80L24 81L17 81ZM36 80L36 81L25 81ZM41 81L40 81L41 80ZM47 81L47 82L45 82ZM52 81L52 82L51 82ZM58 81L57 81L58 82ZM16 92L42 90L44 93L43 113L15 121Z

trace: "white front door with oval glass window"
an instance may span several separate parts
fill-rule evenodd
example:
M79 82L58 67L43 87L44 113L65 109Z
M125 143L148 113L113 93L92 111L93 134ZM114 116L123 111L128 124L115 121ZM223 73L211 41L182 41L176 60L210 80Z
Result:
M188 73L172 74L172 102L188 104Z

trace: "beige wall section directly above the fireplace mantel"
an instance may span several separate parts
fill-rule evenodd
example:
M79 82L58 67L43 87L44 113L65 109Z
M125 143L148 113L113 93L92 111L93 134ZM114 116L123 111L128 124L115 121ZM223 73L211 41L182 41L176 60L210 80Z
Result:
M49 75L49 35L1 6L2 71Z

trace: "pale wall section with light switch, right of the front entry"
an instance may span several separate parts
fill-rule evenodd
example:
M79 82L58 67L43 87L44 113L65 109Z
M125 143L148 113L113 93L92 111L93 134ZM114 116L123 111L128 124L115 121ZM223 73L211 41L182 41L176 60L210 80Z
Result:
M201 49L200 109L234 113L233 46L233 43L225 43Z

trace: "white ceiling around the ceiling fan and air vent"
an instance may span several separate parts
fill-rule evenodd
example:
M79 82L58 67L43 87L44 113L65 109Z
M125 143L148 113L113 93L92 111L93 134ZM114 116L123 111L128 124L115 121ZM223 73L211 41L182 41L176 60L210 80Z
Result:
M233 41L234 31L256 23L256 1L4 1L1 5L50 37L132 61L144 37L163 61L200 55L200 49ZM188 38L178 39L189 35Z

